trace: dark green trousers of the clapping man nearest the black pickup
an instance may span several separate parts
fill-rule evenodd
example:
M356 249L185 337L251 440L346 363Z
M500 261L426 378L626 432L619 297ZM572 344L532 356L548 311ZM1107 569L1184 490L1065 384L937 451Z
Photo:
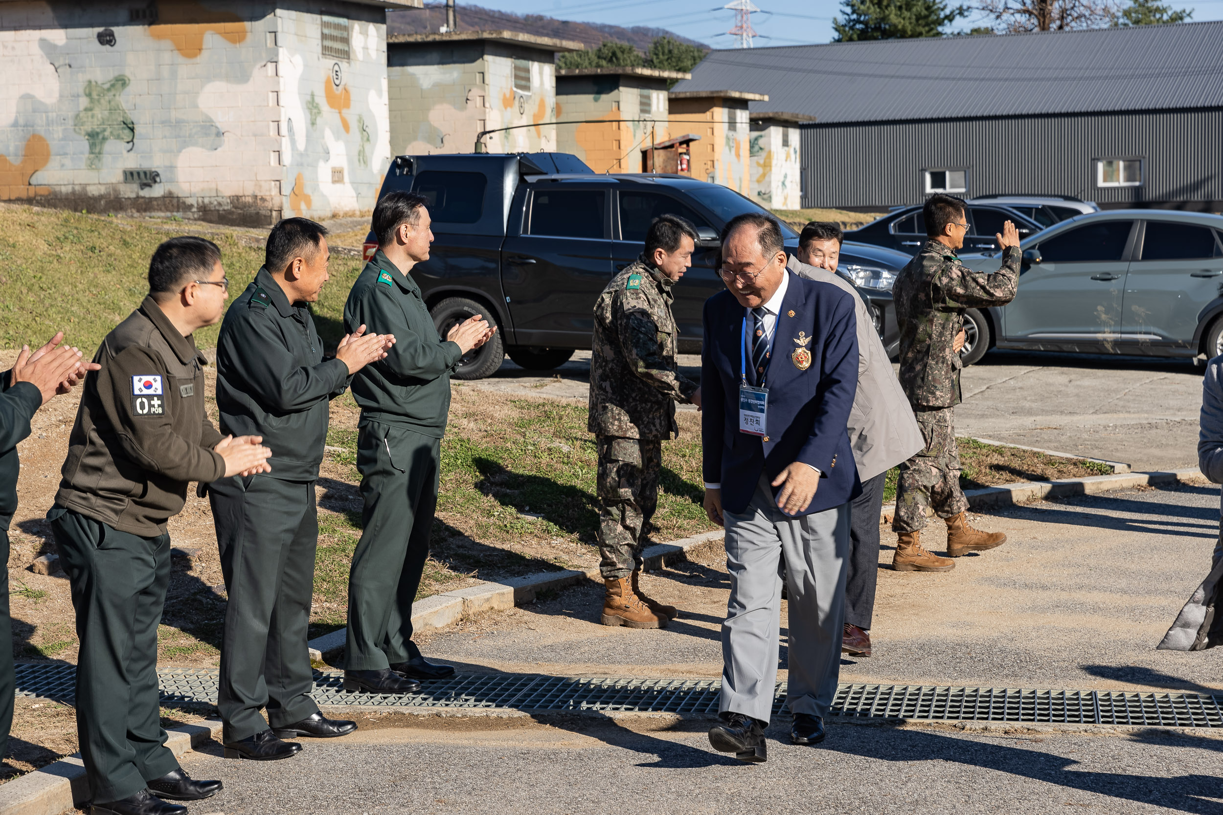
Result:
M361 541L349 572L345 667L377 671L421 655L412 601L429 556L442 440L377 422L361 425Z

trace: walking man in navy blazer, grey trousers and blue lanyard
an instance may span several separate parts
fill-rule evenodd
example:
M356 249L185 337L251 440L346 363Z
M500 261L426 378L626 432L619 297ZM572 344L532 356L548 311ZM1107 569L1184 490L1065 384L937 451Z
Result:
M728 291L704 304L704 510L726 528L722 722L709 743L764 761L777 682L780 558L789 593L790 740L816 744L837 693L849 502L861 492L846 425L857 391L854 298L786 270L766 215L726 224Z

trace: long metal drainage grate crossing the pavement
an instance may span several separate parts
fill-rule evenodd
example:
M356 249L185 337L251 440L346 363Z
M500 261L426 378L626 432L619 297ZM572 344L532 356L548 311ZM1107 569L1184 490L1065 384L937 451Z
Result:
M76 667L17 665L17 695L75 700ZM216 703L215 670L158 671L161 700ZM717 714L718 679L572 678L468 673L427 682L418 693L345 693L344 674L314 672L314 700L328 705L503 710L605 710ZM778 683L773 712L785 706ZM939 685L841 684L833 714L868 718L1223 728L1223 696L1117 690L1025 690Z

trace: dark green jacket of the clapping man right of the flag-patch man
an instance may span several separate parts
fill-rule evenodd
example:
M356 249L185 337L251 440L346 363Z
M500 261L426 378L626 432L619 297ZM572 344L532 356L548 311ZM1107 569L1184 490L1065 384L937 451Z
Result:
M309 308L292 304L259 269L221 324L216 407L221 433L263 436L272 478L313 481L323 462L328 403L349 386L349 367L323 359Z

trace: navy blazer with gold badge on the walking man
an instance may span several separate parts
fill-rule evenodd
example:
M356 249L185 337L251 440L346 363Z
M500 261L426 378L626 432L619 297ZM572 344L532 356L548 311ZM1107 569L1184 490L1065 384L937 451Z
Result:
M857 320L854 298L833 286L790 275L766 369L768 436L739 431L740 359L745 309L729 291L704 303L701 351L701 440L704 480L722 483L722 507L747 510L761 469L769 480L800 461L819 469L819 488L800 516L857 497L862 485L849 444L849 412L857 392ZM793 314L793 316L791 316ZM791 354L799 332L812 340L811 367L799 370ZM777 495L774 488L773 494Z

